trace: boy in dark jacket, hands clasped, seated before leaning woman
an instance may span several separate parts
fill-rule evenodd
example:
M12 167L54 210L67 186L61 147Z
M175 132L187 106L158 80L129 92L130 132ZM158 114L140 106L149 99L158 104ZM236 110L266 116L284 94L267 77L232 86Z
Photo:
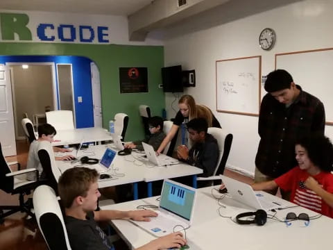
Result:
M189 165L203 169L203 174L200 176L212 176L219 158L219 145L216 139L207 133L207 121L195 118L187 122L186 126L193 146L188 149L187 146L180 145L177 149L178 158Z

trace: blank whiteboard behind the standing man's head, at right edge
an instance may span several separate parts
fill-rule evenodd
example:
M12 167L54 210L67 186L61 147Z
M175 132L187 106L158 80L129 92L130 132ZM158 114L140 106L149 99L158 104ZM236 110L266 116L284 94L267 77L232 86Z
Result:
M333 48L278 53L275 69L285 69L302 90L320 99L326 124L333 124Z

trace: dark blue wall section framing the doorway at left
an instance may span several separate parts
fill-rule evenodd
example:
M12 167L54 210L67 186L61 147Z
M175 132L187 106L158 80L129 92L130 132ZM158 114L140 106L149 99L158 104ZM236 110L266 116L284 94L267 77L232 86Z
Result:
M72 65L76 128L94 126L94 110L92 105L92 77L90 63L92 60L82 56L0 56L0 64L6 63L67 63ZM57 99L58 72L56 68ZM78 103L78 97L83 98Z

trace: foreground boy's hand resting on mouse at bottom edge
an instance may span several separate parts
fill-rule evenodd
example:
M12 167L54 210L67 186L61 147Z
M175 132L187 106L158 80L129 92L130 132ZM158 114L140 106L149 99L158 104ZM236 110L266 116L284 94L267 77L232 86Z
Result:
M187 244L187 240L182 237L182 233L177 232L160 237L156 240L151 241L148 244L151 244L151 246L149 246L151 247L150 249L179 249L180 247Z

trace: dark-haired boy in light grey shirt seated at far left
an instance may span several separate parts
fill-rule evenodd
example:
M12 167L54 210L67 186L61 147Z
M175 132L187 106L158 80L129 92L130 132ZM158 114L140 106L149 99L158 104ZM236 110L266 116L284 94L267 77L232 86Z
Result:
M54 128L51 124L42 124L38 126L38 140L34 140L31 142L29 147L29 153L28 153L28 162L26 164L26 168L35 168L38 170L40 178L44 178L42 172L43 167L40 164L40 158L38 157L38 146L40 142L46 141L46 142L53 142L53 137L56 135L56 128ZM53 151L55 152L70 152L70 149L62 149L60 147L53 147ZM67 155L62 157L56 157L56 160L71 160L74 156ZM29 173L26 177L28 181L34 181L35 180L35 173Z

